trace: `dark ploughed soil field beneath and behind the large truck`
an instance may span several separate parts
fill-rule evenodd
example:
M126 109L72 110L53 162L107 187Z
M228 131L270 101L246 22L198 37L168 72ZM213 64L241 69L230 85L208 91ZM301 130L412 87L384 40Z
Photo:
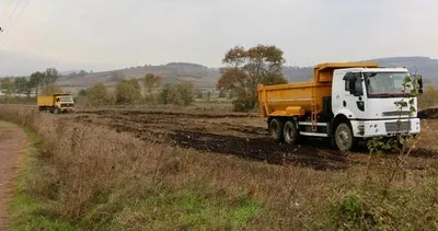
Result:
M151 142L272 164L339 170L353 164L366 164L368 160L365 143L359 152L349 154L339 152L324 139L307 139L299 146L277 143L269 138L266 123L256 114L102 109L82 111L66 118L111 127ZM425 136L411 154L414 169L423 169L424 164L438 161L438 147L431 141L438 135L438 123L424 119L423 125L422 132Z

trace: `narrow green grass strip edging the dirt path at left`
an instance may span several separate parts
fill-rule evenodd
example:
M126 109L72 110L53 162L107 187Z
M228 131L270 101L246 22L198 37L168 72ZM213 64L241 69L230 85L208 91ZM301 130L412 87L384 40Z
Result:
M32 162L35 159L36 135L26 130L30 145L21 157L22 169L18 183L13 189L12 200L8 206L9 230L76 230L76 228L61 219L45 215L45 203L30 195L27 178L31 174Z

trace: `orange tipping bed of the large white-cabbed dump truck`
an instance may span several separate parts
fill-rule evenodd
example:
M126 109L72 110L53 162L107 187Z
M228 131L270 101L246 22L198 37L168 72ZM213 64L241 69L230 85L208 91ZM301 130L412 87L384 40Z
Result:
M332 95L333 71L341 68L378 67L374 62L331 62L318 65L313 81L278 85L258 84L258 106L264 117L319 114L323 99Z

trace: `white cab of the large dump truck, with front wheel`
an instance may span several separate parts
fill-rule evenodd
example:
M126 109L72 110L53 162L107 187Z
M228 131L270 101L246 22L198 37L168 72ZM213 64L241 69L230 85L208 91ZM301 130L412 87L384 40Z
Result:
M410 72L406 68L348 68L333 73L332 112L334 122L348 120L349 129L335 131L337 146L350 146L350 138L419 134L417 99L413 107L400 109L397 104L411 88L403 89ZM334 123L336 124L336 123ZM339 134L341 132L341 134ZM341 143L339 143L341 142Z

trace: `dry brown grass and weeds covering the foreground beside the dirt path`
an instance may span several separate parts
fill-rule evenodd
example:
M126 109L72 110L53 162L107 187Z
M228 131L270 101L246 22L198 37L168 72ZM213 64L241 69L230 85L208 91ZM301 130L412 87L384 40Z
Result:
M361 164L315 171L143 142L21 107L0 114L37 131L28 182L49 205L42 212L83 229L438 229L436 159L384 187L391 158L371 174Z

